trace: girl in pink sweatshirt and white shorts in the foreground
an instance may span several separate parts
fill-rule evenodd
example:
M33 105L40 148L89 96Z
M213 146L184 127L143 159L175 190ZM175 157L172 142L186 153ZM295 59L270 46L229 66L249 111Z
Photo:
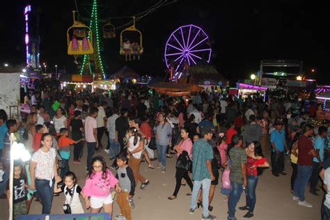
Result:
M91 213L98 213L102 207L104 212L108 212L112 217L112 196L111 188L116 187L117 193L121 188L118 180L107 168L103 157L93 157L91 162L92 169L87 174L86 183L83 188L84 194L90 197Z

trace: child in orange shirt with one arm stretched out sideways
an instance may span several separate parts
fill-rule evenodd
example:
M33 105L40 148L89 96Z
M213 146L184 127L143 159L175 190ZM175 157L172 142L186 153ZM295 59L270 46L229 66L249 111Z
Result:
M58 148L60 148L60 156L62 158L62 168L60 177L63 180L65 173L70 171L69 159L70 159L70 145L73 143L79 143L84 139L79 139L78 141L73 141L68 138L69 132L68 129L62 127L60 129L61 137L58 139Z

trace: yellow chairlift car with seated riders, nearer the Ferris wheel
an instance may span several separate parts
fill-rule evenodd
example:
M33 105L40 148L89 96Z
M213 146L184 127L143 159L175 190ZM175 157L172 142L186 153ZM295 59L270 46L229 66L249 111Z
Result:
M139 33L140 39L139 39L139 43L137 43L137 45L131 44L131 42L129 42L129 40L124 42L123 33L128 32L128 31L133 31L133 32ZM136 49L134 49L134 47L136 47ZM119 52L119 54L126 55L127 51L130 54L134 54L136 52L139 53L139 55L143 54L142 33L135 27L135 17L133 17L133 25L127 27L126 29L124 29L123 31L120 32L120 52Z

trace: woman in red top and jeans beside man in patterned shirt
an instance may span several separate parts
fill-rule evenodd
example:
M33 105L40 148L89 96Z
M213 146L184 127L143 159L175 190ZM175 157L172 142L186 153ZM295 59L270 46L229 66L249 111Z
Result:
M253 217L253 210L256 206L256 188L258 184L258 176L262 174L262 168L269 167L267 159L262 155L262 148L258 141L250 143L246 148L246 178L247 185L245 187L246 205L239 207L239 210L248 210L244 218Z

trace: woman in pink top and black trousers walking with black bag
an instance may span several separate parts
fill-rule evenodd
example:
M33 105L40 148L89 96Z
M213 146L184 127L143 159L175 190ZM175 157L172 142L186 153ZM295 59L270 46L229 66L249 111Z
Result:
M181 129L181 140L178 143L178 145L175 146L176 152L178 152L177 157L180 155L187 157L189 156L189 159L191 159L191 154L192 154L192 142L191 139L189 138L189 130L185 127L182 127ZM191 182L191 179L189 177L187 169L184 168L176 168L176 173L175 173L175 179L176 179L176 185L175 185L175 190L172 194L172 196L169 196L169 200L173 200L177 198L179 189L181 187L181 180L184 178L184 180L187 181L191 191L193 189L193 184ZM188 193L187 196L190 196L191 193Z

